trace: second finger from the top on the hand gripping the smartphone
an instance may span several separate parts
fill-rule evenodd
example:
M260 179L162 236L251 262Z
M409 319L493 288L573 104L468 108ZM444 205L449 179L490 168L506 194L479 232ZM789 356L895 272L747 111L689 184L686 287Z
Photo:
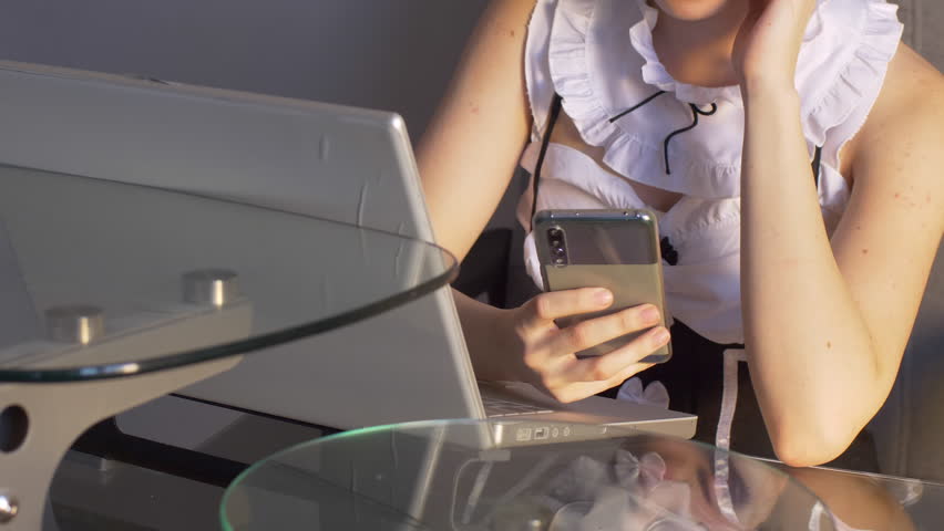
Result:
M660 321L659 310L651 304L629 308L564 329L554 341L552 352L557 355L581 352L623 335L655 326Z

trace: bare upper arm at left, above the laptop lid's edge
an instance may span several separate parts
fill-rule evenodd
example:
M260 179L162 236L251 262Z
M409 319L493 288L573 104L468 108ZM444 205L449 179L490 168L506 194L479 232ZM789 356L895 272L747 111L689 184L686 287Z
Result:
M417 148L438 242L462 260L529 137L524 41L534 0L492 0Z

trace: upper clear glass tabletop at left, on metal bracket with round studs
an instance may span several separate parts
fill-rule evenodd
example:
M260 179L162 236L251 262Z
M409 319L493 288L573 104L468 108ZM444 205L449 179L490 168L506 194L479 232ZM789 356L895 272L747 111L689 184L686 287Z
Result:
M396 233L0 166L0 382L138 374L248 353L448 284Z

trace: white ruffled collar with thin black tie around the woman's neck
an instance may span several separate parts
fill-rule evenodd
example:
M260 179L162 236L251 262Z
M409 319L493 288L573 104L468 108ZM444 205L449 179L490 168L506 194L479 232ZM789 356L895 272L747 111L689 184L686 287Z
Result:
M637 2L556 1L546 49L553 90L584 140L604 147L604 163L624 177L706 199L740 196L740 88L673 79L653 45L658 11ZM901 38L896 9L885 0L819 0L797 69L811 146L823 145L827 133L856 108L871 107ZM666 94L610 119L657 91L674 97ZM664 140L691 123L689 104L718 110L671 140L667 174Z

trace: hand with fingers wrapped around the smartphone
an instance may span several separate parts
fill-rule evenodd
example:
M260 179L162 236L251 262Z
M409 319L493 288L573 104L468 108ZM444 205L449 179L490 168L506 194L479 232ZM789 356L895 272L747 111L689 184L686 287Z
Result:
M639 361L669 341L668 330L654 326L661 320L651 304L563 329L555 324L557 319L599 312L610 304L613 294L608 290L583 288L542 293L521 308L507 310L497 326L505 346L519 354L516 363L507 367L512 377L568 403L620 385L650 367L653 364ZM577 352L648 327L653 330L605 355L576 356Z

